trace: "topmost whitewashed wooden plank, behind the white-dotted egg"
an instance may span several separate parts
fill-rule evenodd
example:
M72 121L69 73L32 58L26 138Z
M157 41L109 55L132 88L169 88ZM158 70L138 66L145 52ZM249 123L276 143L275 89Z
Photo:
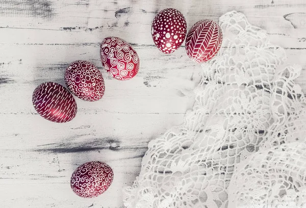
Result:
M34 11L29 8L28 11L24 7L30 7L31 4L25 3L18 5L21 11L17 10L17 13L12 9L16 5L6 1L5 5L10 5L7 6L9 9L3 9L5 13L0 13L4 16L0 19L2 43L98 43L107 36L118 36L133 44L153 45L148 32L152 19L158 11L174 7L185 14L188 28L200 19L218 21L225 12L238 10L246 14L251 24L266 29L275 42L282 43L281 46L306 48L306 24L303 20L306 4L302 0L273 3L270 0L247 3L242 0L231 3L224 0L184 0L179 3L162 0L155 3L137 2L133 5L130 1L104 1L103 4L94 0L82 4L76 0L70 0L69 3L46 2L50 7L48 14L37 13L36 8L32 9ZM45 7L42 6L48 10Z

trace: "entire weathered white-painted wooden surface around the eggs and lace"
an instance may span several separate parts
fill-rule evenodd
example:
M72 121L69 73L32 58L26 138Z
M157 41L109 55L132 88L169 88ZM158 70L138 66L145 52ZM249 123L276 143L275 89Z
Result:
M148 141L181 124L193 105L200 65L184 44L162 54L151 39L154 16L176 8L188 29L200 19L232 10L286 48L302 65L298 83L306 92L306 0L0 0L0 207L123 207L122 188L140 172ZM140 71L131 81L112 79L101 67L99 43L117 36L133 44ZM103 99L77 99L68 123L42 119L32 106L35 87L64 85L66 66L88 60L103 73ZM114 169L109 190L93 199L75 195L70 176L99 160Z

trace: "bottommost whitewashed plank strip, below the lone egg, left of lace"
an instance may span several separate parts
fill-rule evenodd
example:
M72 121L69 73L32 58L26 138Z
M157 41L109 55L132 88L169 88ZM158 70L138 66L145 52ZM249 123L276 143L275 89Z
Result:
M126 174L124 175L127 176ZM132 179L133 176L127 176ZM19 181L17 181L18 183ZM50 180L44 184L23 184L0 185L2 205L7 208L18 207L65 207L65 208L123 208L122 189L130 184L116 183L103 195L97 198L85 199L75 195L68 183L54 183Z

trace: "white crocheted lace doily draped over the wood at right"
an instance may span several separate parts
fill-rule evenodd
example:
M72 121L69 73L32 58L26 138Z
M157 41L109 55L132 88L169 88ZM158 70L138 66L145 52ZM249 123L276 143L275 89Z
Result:
M242 13L202 65L184 124L148 144L127 208L306 207L306 113L298 66Z

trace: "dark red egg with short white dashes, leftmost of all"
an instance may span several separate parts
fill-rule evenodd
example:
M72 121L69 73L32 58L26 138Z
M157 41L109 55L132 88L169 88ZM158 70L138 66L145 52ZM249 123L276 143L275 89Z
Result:
M37 113L49 121L68 122L77 114L77 102L72 94L54 82L39 85L33 92L32 102Z

